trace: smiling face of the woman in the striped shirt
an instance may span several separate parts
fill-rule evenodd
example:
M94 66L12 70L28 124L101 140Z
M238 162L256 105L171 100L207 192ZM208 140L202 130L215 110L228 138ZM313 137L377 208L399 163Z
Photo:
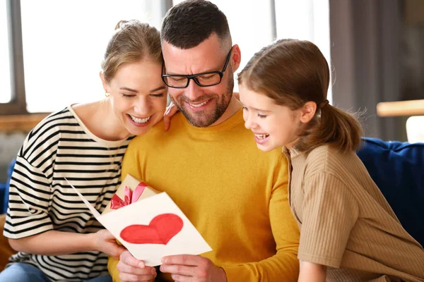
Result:
M125 63L107 83L112 110L131 135L143 135L158 123L166 108L162 65L153 61Z

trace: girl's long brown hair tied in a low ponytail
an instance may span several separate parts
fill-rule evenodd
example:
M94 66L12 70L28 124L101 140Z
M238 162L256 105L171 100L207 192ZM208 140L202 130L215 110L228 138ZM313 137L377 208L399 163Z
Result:
M317 111L295 144L302 152L329 143L342 152L358 149L361 125L353 114L328 104L329 65L309 41L281 39L254 54L238 75L239 84L276 104L300 109L315 102Z

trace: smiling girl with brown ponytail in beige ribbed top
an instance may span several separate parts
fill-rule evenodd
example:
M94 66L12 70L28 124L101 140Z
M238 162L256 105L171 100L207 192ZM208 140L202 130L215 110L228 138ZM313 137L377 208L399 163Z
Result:
M329 105L329 66L307 41L261 49L238 75L246 128L283 147L300 227L299 281L424 281L424 250L355 154L358 121Z

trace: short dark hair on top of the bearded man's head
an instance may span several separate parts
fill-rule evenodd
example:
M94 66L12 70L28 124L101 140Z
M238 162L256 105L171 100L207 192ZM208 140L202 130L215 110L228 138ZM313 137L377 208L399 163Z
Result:
M218 35L221 47L227 48L230 41L230 27L227 17L220 9L209 1L183 1L167 12L160 31L161 42L179 48L190 49L198 46L213 33Z

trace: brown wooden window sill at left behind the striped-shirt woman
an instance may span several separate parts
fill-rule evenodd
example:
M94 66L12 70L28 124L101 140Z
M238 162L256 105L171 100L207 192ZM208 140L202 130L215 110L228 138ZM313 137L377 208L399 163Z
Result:
M0 116L0 132L29 132L48 115L49 113Z

